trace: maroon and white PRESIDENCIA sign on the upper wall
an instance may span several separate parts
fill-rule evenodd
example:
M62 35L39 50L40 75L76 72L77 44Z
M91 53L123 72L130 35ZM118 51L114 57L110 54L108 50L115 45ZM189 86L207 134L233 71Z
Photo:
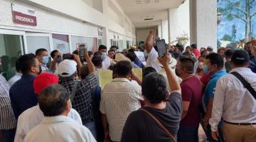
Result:
M12 4L14 23L36 26L36 10L28 9L25 6Z

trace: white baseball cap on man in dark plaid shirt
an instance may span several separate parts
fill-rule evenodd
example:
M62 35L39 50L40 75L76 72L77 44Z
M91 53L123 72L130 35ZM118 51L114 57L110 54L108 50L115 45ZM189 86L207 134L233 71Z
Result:
M70 77L77 70L77 63L74 60L63 60L58 65L58 75L60 77Z

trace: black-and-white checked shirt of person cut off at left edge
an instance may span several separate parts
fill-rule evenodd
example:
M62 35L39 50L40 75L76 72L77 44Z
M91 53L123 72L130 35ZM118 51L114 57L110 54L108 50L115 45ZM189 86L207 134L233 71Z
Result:
M16 119L14 111L11 109L9 89L8 82L0 75L0 130L16 128Z

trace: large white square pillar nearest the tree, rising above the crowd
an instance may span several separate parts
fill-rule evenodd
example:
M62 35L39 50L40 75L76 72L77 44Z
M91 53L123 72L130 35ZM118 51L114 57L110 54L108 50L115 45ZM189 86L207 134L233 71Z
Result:
M217 51L217 1L190 0L191 43Z

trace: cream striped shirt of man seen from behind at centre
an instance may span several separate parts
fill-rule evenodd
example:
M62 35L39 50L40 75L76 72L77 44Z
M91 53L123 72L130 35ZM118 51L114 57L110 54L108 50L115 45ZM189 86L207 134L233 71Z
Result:
M100 111L106 114L112 141L121 141L122 129L132 111L141 107L142 89L125 78L115 78L102 90Z

